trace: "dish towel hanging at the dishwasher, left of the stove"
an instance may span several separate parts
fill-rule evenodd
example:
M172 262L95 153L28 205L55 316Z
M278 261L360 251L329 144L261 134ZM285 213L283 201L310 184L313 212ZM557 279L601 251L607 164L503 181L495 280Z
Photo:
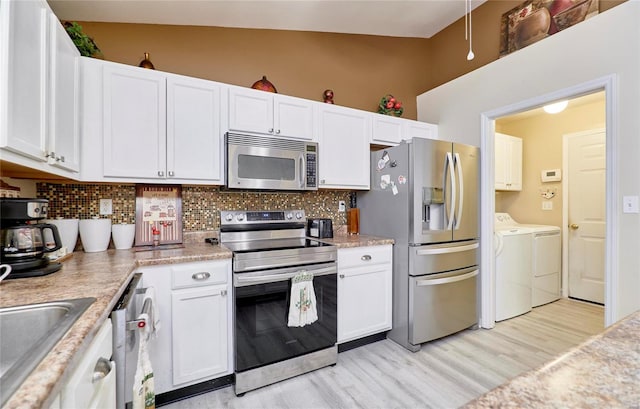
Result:
M141 319L150 322L151 318L147 314L140 314ZM147 340L151 333L149 326L139 329L140 341L138 345L138 366L136 374L133 378L133 409L155 409L156 393L153 380L153 368L149 359L149 351L147 351Z

